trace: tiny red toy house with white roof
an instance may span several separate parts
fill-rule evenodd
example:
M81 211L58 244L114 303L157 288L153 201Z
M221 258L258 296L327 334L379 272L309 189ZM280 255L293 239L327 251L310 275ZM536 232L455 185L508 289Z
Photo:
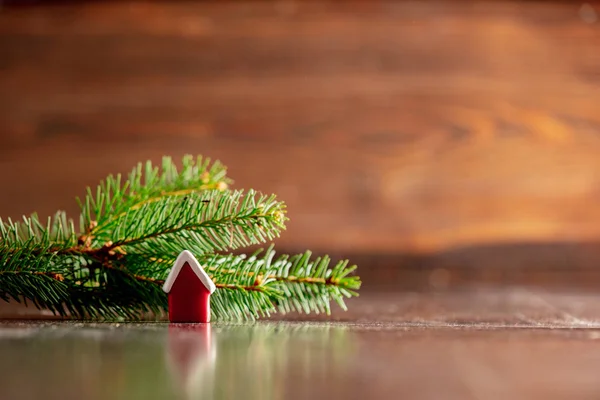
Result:
M210 295L215 289L194 255L182 251L163 285L169 294L169 321L209 322Z

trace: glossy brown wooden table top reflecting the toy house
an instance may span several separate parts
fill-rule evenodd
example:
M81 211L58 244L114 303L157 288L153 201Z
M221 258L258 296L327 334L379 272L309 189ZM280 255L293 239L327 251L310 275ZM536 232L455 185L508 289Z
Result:
M1 399L596 399L600 297L365 294L331 317L0 322Z

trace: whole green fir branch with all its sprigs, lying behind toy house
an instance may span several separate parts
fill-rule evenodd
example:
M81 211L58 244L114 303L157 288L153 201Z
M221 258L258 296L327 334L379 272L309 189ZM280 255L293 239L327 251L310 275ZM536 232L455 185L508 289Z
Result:
M285 204L274 195L228 189L218 162L184 157L178 170L138 164L127 179L109 176L79 200L81 231L64 213L42 223L0 220L0 299L30 301L61 316L140 319L164 316L162 284L190 250L217 291L214 319L255 319L276 312L345 309L357 295L355 266L311 253L275 258L221 252L266 243L285 229Z

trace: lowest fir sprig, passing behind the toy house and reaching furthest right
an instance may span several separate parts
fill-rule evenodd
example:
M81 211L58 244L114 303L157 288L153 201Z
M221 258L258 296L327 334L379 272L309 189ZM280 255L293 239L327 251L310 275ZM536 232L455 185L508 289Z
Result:
M176 246L174 250L178 249L181 247ZM165 251L157 258L128 253L121 262L130 273L136 271L162 285L177 254ZM361 284L359 277L351 275L356 266L348 266L343 260L331 267L329 257L311 258L309 251L275 258L271 246L266 251L257 250L249 257L244 254L206 254L198 258L218 288L217 293L224 289L228 292L223 294L222 301L211 300L213 319L216 320L227 319L228 315L235 319L254 319L293 311L330 314L331 301L345 310L344 300L356 296ZM248 303L256 296L256 304Z

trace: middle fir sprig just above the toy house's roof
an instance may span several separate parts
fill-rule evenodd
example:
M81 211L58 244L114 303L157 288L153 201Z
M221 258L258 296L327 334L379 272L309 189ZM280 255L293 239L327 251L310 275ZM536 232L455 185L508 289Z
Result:
M126 253L176 255L193 243L196 254L263 243L285 228L285 205L253 190L166 197L131 209L96 236Z

